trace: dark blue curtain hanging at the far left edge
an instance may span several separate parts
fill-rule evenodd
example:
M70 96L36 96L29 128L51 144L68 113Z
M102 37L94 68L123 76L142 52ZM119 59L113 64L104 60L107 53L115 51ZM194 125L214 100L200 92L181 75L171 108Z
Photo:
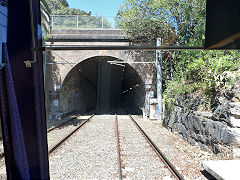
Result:
M3 62L5 62L5 67L0 73L0 98L8 179L30 179L26 147L5 43L3 43Z

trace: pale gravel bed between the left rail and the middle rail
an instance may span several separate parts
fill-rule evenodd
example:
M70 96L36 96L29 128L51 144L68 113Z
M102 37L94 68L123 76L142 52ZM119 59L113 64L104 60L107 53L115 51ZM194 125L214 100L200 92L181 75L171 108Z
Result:
M64 146L49 156L52 179L116 179L113 115L96 115Z

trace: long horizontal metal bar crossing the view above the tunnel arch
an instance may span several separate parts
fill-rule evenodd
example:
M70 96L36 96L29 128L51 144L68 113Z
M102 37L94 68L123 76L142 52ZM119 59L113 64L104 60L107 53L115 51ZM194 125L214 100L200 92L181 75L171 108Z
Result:
M204 50L204 47L172 47L172 46L46 46L39 51L75 51L75 50Z

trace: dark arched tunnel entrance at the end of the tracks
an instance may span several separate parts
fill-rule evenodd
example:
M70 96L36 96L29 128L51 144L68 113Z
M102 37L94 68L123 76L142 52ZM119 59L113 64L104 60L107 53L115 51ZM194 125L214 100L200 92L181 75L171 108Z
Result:
M60 91L62 112L115 113L118 106L141 114L145 90L141 77L129 64L111 64L114 57L97 56L77 64ZM119 60L118 60L119 61Z

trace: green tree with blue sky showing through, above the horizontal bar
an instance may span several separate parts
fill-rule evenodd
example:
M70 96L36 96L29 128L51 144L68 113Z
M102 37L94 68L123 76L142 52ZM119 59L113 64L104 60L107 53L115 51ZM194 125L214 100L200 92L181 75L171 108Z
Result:
M120 25L134 41L202 45L205 0L125 0ZM192 38L190 40L190 37Z

